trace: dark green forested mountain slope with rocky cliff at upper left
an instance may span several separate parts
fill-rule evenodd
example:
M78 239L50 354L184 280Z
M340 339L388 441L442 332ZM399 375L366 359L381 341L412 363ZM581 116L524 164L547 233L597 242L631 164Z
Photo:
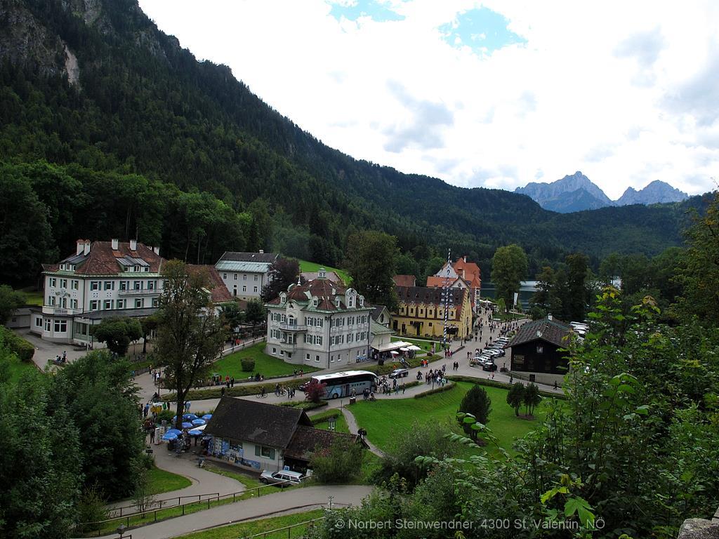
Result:
M0 60L0 160L14 178L0 189L40 204L49 229L17 231L6 218L0 259L22 234L44 234L47 246L22 276L3 262L0 280L29 277L79 236L107 234L190 262L265 248L337 264L349 232L382 229L418 260L452 247L484 270L495 247L516 242L536 269L575 250L654 254L681 240L684 209L700 204L559 215L524 195L354 160L228 68L196 61L135 0L0 0ZM75 195L42 192L53 175Z

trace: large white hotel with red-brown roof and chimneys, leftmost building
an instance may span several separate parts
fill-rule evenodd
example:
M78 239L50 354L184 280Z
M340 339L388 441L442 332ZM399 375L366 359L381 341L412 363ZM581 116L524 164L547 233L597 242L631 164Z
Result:
M78 239L75 254L43 264L42 309L30 315L30 331L48 341L87 344L89 328L103 318L155 312L165 259L158 247L136 240Z

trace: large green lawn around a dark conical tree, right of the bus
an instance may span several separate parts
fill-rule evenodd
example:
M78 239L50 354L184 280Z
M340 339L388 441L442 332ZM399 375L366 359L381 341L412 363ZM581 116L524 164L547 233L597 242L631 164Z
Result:
M388 449L398 432L410 430L415 420L421 422L454 419L464 394L472 387L471 382L457 382L456 387L419 399L360 400L352 405L357 424L367 429L367 438L380 449ZM511 451L512 442L533 428L544 416L541 405L535 411L537 419L528 421L517 418L513 408L507 405L507 390L483 386L492 400L492 411L487 426L498 438L501 447Z

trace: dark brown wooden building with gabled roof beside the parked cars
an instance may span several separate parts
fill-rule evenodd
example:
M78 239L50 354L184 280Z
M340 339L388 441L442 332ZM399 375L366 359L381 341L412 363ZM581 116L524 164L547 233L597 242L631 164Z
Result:
M572 326L551 318L527 322L509 341L511 370L531 382L552 384L567 374L567 352Z

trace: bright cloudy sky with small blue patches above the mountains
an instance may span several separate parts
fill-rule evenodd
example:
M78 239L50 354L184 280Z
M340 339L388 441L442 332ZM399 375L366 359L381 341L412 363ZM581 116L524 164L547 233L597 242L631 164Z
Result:
M139 3L358 159L472 187L716 188L716 1Z

